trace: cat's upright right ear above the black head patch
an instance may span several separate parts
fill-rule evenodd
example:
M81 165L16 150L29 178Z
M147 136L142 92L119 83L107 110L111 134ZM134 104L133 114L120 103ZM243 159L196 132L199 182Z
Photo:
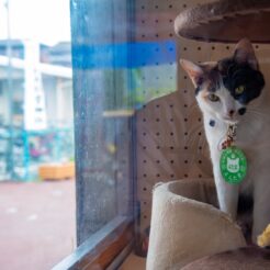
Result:
M243 38L238 42L235 48L234 58L239 64L248 64L252 69L258 70L258 60L256 58L252 44Z

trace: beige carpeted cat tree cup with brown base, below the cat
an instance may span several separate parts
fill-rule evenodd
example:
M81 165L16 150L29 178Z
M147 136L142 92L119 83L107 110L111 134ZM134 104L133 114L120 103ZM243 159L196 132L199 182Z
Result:
M240 227L215 205L212 180L157 184L146 269L270 269L270 252L247 247Z

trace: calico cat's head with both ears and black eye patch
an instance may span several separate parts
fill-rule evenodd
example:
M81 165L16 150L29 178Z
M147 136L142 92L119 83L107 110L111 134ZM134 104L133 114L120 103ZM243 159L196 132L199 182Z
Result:
M201 110L227 123L238 123L265 86L255 52L247 40L237 44L230 58L202 65L188 60L180 63L195 86Z

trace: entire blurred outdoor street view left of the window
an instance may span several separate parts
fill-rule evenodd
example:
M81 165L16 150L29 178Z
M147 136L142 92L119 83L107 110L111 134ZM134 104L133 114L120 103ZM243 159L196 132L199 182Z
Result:
M69 0L0 0L1 269L76 246L72 108Z

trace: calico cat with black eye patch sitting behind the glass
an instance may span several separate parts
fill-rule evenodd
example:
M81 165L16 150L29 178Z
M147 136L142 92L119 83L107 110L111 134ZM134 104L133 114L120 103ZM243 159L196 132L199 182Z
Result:
M256 243L270 223L270 89L265 87L252 45L244 38L228 58L200 65L180 59L180 64L195 87L203 114L220 209L236 220L240 194L252 196ZM224 181L220 169L221 145L229 125L237 126L235 145L248 162L239 184Z

